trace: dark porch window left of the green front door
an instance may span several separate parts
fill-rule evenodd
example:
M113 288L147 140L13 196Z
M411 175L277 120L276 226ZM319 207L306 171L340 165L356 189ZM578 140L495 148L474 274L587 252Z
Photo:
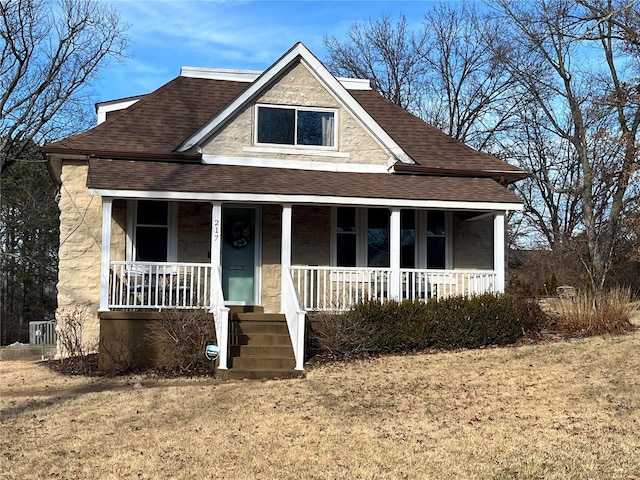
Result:
M168 202L139 200L135 224L135 259L166 262L169 243Z

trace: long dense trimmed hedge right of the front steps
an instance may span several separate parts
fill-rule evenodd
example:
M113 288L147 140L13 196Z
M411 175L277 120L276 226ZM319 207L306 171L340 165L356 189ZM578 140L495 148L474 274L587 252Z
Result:
M312 339L334 355L505 345L523 334L520 315L514 299L504 295L370 301L315 317Z

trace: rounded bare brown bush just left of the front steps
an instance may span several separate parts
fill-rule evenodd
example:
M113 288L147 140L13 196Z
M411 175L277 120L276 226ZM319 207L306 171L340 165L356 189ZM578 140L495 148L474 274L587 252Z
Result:
M213 316L204 310L167 310L149 322L145 343L160 352L163 367L176 373L202 373L209 366L205 346L216 343Z

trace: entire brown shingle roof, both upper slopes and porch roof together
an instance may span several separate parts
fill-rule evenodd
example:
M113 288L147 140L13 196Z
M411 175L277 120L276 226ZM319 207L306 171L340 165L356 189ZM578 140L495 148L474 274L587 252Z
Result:
M134 105L110 113L95 128L42 150L96 157L89 161L87 183L98 189L211 192L215 185L216 191L229 193L339 192L353 197L520 203L487 177L499 179L507 174L513 179L524 172L452 139L373 90L349 92L428 175L201 165L196 151L175 151L249 85L180 76L141 96ZM415 168L398 165L398 171Z

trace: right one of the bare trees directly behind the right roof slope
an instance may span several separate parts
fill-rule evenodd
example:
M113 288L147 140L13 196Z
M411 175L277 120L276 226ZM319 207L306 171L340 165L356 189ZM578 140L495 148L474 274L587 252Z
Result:
M441 4L424 17L427 72L422 117L453 138L488 150L510 128L522 96L501 67L505 26L475 4Z

